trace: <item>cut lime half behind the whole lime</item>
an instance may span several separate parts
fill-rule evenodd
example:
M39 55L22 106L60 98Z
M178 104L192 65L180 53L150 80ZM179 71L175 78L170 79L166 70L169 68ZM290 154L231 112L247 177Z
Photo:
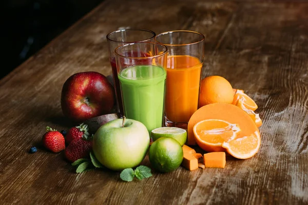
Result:
M187 132L182 128L156 128L152 130L151 137L153 141L161 137L171 137L176 139L183 146L187 139Z

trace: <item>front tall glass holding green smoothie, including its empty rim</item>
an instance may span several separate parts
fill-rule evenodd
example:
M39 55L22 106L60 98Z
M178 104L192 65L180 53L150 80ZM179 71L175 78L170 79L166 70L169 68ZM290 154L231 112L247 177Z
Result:
M114 52L124 115L142 122L149 133L162 127L167 48L155 43L132 43Z

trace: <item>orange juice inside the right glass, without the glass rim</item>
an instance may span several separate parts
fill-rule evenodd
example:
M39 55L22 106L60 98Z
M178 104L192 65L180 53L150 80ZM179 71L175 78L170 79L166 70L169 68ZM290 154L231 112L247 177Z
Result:
M202 63L189 55L167 60L165 114L172 122L188 122L198 109Z

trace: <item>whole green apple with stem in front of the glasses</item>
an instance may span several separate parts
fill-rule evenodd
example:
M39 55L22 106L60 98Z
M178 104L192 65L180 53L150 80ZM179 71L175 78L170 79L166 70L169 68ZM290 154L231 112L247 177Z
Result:
M95 157L110 170L120 171L140 164L147 154L150 136L139 121L115 119L101 126L93 136Z

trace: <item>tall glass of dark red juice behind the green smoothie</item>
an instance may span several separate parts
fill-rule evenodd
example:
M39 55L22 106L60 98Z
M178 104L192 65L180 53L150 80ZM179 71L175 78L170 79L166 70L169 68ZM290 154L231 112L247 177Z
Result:
M117 66L115 65L114 49L129 43L137 42L152 42L155 37L155 33L146 29L122 29L113 31L107 34L107 43L109 49L109 60L112 69L113 85L115 90L115 96L117 97L118 112L123 115L123 105L121 98L120 83L118 79ZM133 57L135 54L130 53Z

